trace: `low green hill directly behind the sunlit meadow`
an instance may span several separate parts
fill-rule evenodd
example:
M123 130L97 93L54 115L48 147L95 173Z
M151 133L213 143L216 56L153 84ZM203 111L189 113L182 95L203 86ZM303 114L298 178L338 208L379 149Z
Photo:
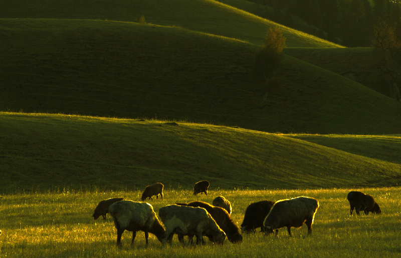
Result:
M200 179L214 189L326 188L393 185L401 178L401 164L285 135L157 120L0 115L3 191L132 189L154 181L190 188Z

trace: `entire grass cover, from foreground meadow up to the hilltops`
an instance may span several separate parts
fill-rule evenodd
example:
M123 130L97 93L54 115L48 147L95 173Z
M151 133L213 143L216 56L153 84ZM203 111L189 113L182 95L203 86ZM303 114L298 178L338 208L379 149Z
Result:
M0 257L395 257L401 252L401 103L371 48L258 17L246 0L0 0ZM259 5L258 5L259 7ZM256 83L272 26L287 48ZM377 69L376 69L377 70ZM264 96L266 92L266 100ZM193 196L199 180L209 194ZM161 248L91 217L109 197L166 204L223 195L242 223L262 199L306 195L306 226L241 244ZM349 216L346 194L380 215Z

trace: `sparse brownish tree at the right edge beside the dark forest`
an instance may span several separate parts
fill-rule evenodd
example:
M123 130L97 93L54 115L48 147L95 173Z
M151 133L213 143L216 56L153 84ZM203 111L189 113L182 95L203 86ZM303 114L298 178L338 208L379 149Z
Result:
M401 20L391 25L380 21L374 26L372 46L376 50L377 63L389 80L390 96L401 101Z

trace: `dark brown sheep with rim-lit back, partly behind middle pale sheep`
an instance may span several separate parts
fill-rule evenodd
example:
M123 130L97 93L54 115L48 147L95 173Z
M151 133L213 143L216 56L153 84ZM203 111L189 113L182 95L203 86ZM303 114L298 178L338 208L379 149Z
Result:
M216 223L220 226L221 229L226 233L227 238L232 243L240 243L242 242L242 235L239 232L238 226L233 222L230 217L230 214L222 207L213 206L204 201L192 201L189 203L179 203L178 205L186 205L191 207L201 207L205 208L215 219ZM207 235L210 239L209 235ZM178 236L180 238L180 236Z

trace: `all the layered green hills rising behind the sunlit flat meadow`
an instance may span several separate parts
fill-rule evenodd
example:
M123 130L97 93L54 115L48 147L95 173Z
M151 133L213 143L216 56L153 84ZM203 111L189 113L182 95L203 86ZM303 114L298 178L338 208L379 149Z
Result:
M215 0L0 5L2 191L400 181L401 103L347 77L365 49ZM252 66L271 26L288 49L264 100Z

